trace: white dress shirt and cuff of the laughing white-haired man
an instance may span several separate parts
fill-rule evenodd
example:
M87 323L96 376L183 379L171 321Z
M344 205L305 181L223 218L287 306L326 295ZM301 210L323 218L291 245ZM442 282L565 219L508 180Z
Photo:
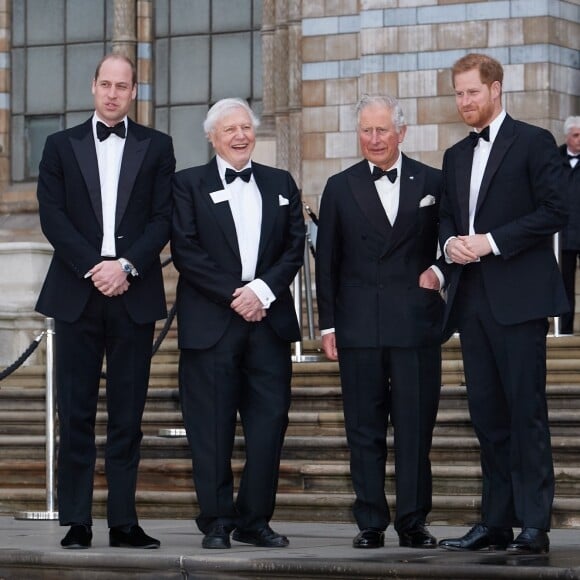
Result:
M253 174L247 183L241 178L226 183L226 169L237 170L219 155L216 155L216 161L222 184L228 194L230 210L236 226L236 237L242 261L242 281L248 282L247 286L256 294L264 308L269 308L270 304L276 300L276 296L263 280L255 277L262 229L260 190ZM251 161L249 161L245 167L242 167L242 170L251 166Z

